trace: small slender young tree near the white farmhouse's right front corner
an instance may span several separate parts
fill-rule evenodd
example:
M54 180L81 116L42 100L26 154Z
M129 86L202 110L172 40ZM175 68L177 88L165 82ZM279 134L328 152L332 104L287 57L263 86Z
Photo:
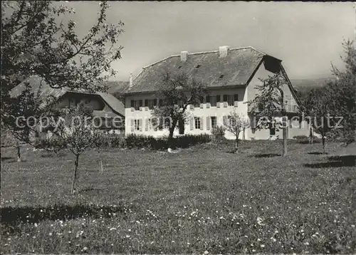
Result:
M226 131L235 135L235 153L239 149L239 135L241 132L245 132L246 128L250 125L248 118L240 115L236 110L232 111L229 116L224 118L224 127Z

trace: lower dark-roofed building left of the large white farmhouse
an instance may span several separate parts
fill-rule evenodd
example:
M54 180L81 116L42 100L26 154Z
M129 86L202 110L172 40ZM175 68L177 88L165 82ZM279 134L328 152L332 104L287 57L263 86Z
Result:
M97 120L101 119L102 129L120 133L125 128L123 125L125 107L120 100L109 93L88 93L68 88L51 88L42 78L31 76L13 88L10 95L12 97L20 95L21 91L26 88L25 83L29 83L32 92L39 97L44 98L50 95L56 98L56 108L72 108L83 102L86 106L93 108L93 115ZM122 128L119 128L120 123L114 125L114 121L120 122L120 120Z

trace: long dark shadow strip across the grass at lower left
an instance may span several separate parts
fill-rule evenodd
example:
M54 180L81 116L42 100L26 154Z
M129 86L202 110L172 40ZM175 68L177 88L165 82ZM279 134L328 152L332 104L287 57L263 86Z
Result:
M68 220L80 217L110 218L114 214L125 217L123 206L54 205L49 207L4 207L0 209L1 224L15 226L21 222L36 223L44 220Z

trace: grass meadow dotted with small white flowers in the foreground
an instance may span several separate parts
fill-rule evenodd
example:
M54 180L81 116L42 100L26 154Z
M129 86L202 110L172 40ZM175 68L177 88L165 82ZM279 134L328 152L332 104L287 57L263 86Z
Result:
M1 148L1 254L355 254L355 147L281 146L91 150L76 195L70 152Z

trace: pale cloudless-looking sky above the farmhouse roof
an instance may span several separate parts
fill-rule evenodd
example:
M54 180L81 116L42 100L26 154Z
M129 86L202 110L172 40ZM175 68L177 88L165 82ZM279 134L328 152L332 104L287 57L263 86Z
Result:
M88 31L98 1L69 1L78 33ZM122 58L112 64L128 80L142 67L181 51L254 48L281 59L291 79L331 76L342 68L342 41L355 40L352 2L111 1L107 22L122 21Z

